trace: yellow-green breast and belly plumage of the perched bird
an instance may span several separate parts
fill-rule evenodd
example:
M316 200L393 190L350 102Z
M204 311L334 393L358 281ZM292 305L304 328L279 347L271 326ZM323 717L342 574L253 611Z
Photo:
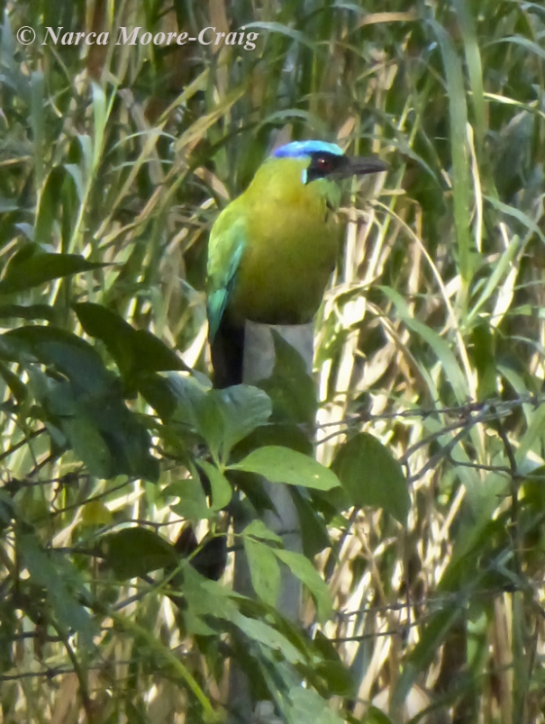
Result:
M274 164L262 167L269 176L258 174L238 200L246 245L229 313L237 320L304 324L322 303L335 265L339 233L331 207L338 204L338 190L326 181L302 184L303 166L297 161L275 177L275 169L268 168Z

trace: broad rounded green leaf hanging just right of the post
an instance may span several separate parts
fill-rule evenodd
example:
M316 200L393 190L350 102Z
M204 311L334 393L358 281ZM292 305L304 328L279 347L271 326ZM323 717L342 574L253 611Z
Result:
M352 505L377 505L404 525L411 505L407 482L401 466L380 440L359 432L340 448L332 469Z

